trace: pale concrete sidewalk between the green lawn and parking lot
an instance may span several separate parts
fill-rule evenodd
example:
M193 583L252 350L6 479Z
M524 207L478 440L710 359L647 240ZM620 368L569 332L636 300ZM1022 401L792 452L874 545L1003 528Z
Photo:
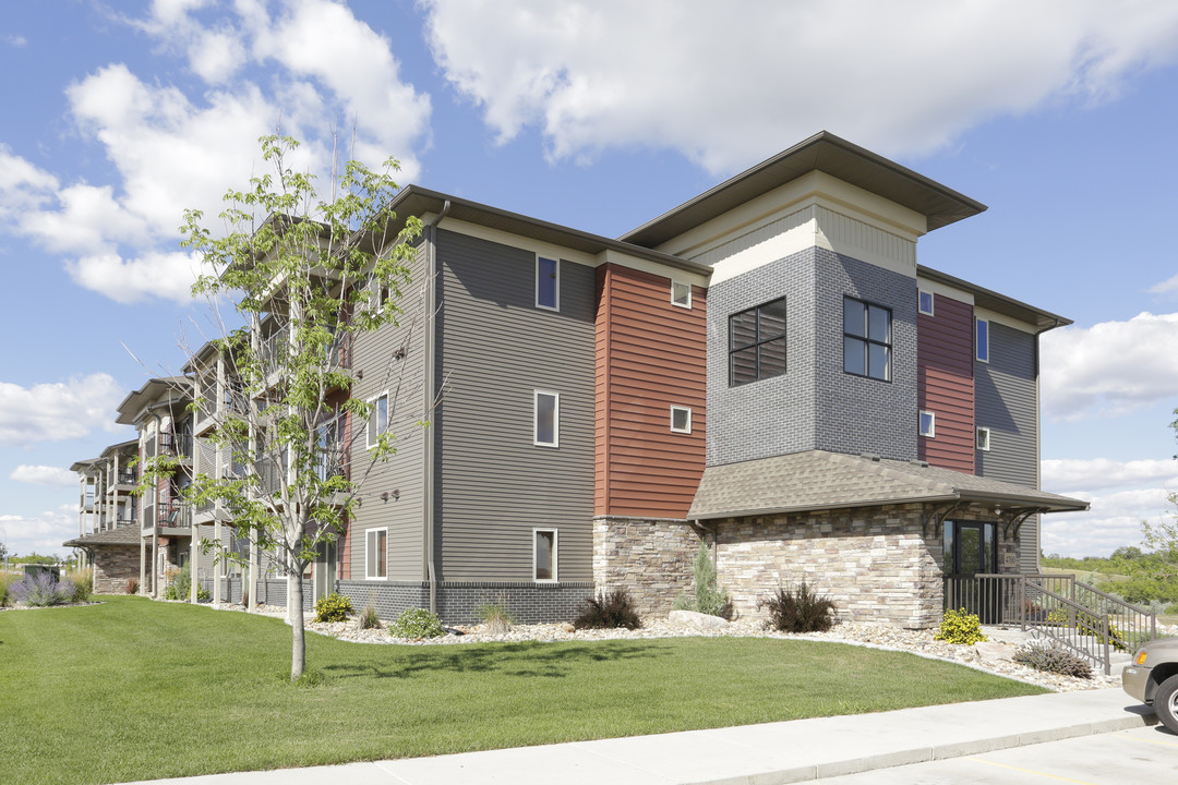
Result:
M799 783L1152 725L1119 688L436 758L153 780L174 785Z

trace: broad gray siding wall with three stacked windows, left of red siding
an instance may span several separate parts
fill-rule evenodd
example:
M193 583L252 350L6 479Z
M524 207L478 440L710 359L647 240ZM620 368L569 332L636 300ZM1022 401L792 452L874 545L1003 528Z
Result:
M439 580L531 580L534 527L558 579L591 580L594 268L561 261L558 313L535 307L535 254L438 232L434 430ZM560 446L532 444L532 391L560 393Z

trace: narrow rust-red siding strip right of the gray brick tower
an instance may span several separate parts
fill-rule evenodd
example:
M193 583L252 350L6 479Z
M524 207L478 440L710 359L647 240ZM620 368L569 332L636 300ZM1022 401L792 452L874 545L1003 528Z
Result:
M935 294L933 314L916 321L916 399L937 414L935 437L919 438L919 455L973 474L973 306Z

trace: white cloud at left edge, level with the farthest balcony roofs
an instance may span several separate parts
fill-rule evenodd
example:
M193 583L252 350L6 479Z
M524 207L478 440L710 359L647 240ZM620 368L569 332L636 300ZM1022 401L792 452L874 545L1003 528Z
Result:
M114 432L112 414L125 395L106 373L32 387L0 381L0 445L79 439L95 427Z

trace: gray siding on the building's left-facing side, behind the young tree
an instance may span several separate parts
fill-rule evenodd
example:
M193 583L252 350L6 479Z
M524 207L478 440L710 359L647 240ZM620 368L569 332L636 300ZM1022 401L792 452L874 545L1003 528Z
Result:
M366 446L366 423L355 421L352 427L352 479L364 480L362 504L351 523L351 579L364 580L365 532L370 528L389 530L389 580L422 580L424 578L424 444L425 430L418 425L428 420L425 408L425 246L419 245L410 264L410 280L396 298L402 310L397 326L382 327L375 333L358 335L352 353L352 368L363 372L352 392L362 400L389 391L389 430L396 435L397 453L384 463L371 464ZM404 359L396 359L399 350ZM396 498L393 492L396 493ZM382 494L388 493L388 499ZM343 578L343 576L340 576Z

